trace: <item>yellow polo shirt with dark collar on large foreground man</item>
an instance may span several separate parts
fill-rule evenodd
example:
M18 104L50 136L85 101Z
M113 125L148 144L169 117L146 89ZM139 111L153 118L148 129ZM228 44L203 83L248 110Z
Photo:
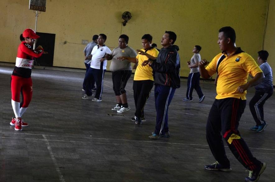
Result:
M206 67L208 74L212 76L217 71L217 61L223 53L218 54L211 63ZM238 86L247 83L248 74L253 77L262 72L255 60L247 53L242 52L235 55L224 54L226 57L221 61L218 67L219 78L217 80L216 99L228 97L241 98L246 100L246 91L240 93L237 91Z

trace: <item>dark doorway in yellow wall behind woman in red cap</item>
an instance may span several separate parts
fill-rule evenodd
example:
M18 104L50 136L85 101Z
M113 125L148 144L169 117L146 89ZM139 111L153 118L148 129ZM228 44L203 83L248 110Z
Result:
M54 43L55 34L36 32L40 38L37 40L36 47L41 45L44 51L49 54L43 54L40 58L36 58L35 65L39 66L53 66L54 63Z

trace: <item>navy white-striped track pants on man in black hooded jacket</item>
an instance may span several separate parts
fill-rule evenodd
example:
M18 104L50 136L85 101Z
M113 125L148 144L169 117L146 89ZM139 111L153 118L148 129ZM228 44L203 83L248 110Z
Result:
M175 88L155 85L156 128L155 133L161 135L169 131L168 108L175 94Z

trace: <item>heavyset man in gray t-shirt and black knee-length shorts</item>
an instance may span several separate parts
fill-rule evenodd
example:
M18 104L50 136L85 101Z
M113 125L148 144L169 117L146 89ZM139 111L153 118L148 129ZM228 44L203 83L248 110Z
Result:
M119 36L119 47L114 48L110 54L106 54L107 60L112 60L110 71L112 72L113 89L117 104L112 110L123 113L130 110L127 102L125 86L132 74L131 63L127 60L120 61L118 57L136 57L137 53L130 48L128 44L129 37L127 35Z

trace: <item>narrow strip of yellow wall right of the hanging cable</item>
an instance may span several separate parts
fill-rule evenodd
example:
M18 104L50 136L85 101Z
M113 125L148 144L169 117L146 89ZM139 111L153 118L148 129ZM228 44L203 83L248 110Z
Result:
M263 49L267 50L269 53L268 64L273 69L273 74L275 73L275 1L271 0L269 3L268 10L268 23L267 30L264 40ZM273 80L274 83L274 80Z

